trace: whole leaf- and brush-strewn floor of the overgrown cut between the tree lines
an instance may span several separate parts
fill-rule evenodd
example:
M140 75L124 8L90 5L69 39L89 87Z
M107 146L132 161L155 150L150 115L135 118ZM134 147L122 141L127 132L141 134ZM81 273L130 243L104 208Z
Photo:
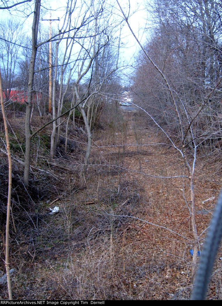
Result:
M160 178L186 176L187 171L179 153L159 144L164 137L147 128L137 112L125 112L124 119L115 129L95 132L86 188L73 192L72 175L69 181L61 179L70 194L38 203L30 222L34 226L17 243L12 237L15 299L189 299L189 181ZM197 159L200 244L220 188L221 162ZM49 215L48 207L55 205L60 212ZM222 298L221 257L220 248L207 299ZM6 285L0 290L7 298Z

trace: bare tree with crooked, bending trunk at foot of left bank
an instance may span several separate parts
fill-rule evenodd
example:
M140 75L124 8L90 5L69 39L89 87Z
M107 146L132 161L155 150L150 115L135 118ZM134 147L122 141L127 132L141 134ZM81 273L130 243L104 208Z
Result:
M84 60L82 60L81 62L81 69L79 70L79 76L73 85L74 93L76 95L76 102L79 110L81 111L84 120L85 130L88 137L88 144L84 157L84 164L82 165L80 170L80 183L79 183L80 189L84 188L85 171L87 169L88 160L91 151L91 143L92 143L92 134L91 134L92 122L96 118L96 115L98 113L98 107L100 105L100 102L102 101L100 99L102 97L101 91L102 89L104 89L103 85L106 84L109 78L111 78L111 76L116 71L118 66L118 56L117 57L114 56L113 57L115 62L114 68L113 65L110 66L107 65L107 70L104 68L99 69L99 66L101 65L101 67L103 67L104 62L109 57L108 50L111 50L109 49L109 40L110 36L112 36L112 30L115 28L115 26L109 27L109 22L107 23L104 22L104 18L106 17L102 16L102 13L104 11L104 6L105 6L104 1L101 4L98 3L97 9L95 8L95 5L92 6L93 16L95 16L94 33L91 34L91 41L89 42L89 47L87 52L85 52L84 54ZM110 62L107 61L106 64L108 63ZM90 69L91 69L91 77L88 81L88 86L86 93L84 95L84 99L81 99L78 85L80 84L80 81L83 79L83 77L88 73ZM98 97L100 98L98 99ZM87 112L85 111L86 107L87 107Z

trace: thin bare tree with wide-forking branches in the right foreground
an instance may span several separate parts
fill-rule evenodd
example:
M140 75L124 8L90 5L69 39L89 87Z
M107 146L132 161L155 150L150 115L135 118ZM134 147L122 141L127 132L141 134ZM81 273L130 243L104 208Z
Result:
M144 94L144 101L137 106L163 132L168 144L180 153L187 169L190 190L187 203L190 203L193 233L192 276L200 247L195 224L196 158L202 144L221 138L219 116L215 118L212 112L221 99L220 46L213 35L220 21L220 14L215 14L218 3L154 2L156 15L153 16L157 25L145 46L139 42L119 5L141 48L134 90Z

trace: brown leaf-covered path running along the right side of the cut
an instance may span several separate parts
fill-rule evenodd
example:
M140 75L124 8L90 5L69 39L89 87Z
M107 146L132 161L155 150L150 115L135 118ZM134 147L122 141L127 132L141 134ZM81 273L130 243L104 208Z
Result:
M129 186L128 189L139 190L138 211L135 215L127 214L138 218L129 218L134 233L125 237L123 245L126 248L129 244L136 245L138 263L142 267L148 264L149 271L146 270L145 279L140 278L134 286L143 287L144 281L149 279L148 282L152 282L150 293L146 293L149 298L188 298L192 287L192 231L186 168L177 151L160 144L167 141L158 130L143 127L137 112L125 113L124 116L127 128L114 134L113 147L104 147L101 154L109 164L115 166L115 163L119 163L121 174L116 185L125 184ZM218 168L218 165L213 167L210 161L197 162L195 217L200 244L221 186ZM122 202L118 205L126 205ZM219 261L217 264L220 266ZM219 279L220 275L217 274L212 289L217 288ZM159 289L154 289L156 287Z

